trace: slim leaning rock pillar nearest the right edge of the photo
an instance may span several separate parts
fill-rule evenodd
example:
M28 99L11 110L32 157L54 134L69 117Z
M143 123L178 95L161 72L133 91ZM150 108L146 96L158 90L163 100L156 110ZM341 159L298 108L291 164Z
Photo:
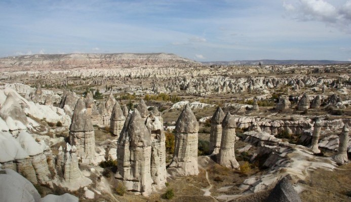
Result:
M338 164L346 164L348 162L347 158L347 143L348 143L348 125L345 124L342 128L341 135L339 137L339 148L338 153L333 157L333 159Z

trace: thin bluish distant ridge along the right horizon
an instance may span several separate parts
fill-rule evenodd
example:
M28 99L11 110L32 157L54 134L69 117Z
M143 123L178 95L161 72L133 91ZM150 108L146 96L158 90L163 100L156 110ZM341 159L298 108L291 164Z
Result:
M236 60L236 61L212 61L202 62L204 65L334 65L347 64L351 61L333 61L333 60Z

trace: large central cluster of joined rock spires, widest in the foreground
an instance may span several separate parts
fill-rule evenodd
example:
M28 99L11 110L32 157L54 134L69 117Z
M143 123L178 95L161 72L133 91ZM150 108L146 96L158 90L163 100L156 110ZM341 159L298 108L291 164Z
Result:
M157 113L157 109L153 112ZM128 114L118 140L120 166L115 178L122 181L128 191L149 195L152 186L165 187L165 140L163 123L158 116L148 113L141 100L133 113Z

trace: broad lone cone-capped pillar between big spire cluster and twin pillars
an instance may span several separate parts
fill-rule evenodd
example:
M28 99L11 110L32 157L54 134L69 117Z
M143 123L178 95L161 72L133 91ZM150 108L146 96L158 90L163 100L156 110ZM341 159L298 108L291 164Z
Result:
M167 169L173 175L198 175L199 123L188 105L180 114L175 127L175 145L171 164Z

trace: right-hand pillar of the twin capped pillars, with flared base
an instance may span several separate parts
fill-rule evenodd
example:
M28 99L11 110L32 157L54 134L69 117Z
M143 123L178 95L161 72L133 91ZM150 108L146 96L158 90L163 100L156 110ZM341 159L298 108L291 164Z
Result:
M235 158L235 140L236 133L235 128L237 127L234 118L228 112L222 123L222 141L217 155L217 163L227 168L239 168L239 163Z

